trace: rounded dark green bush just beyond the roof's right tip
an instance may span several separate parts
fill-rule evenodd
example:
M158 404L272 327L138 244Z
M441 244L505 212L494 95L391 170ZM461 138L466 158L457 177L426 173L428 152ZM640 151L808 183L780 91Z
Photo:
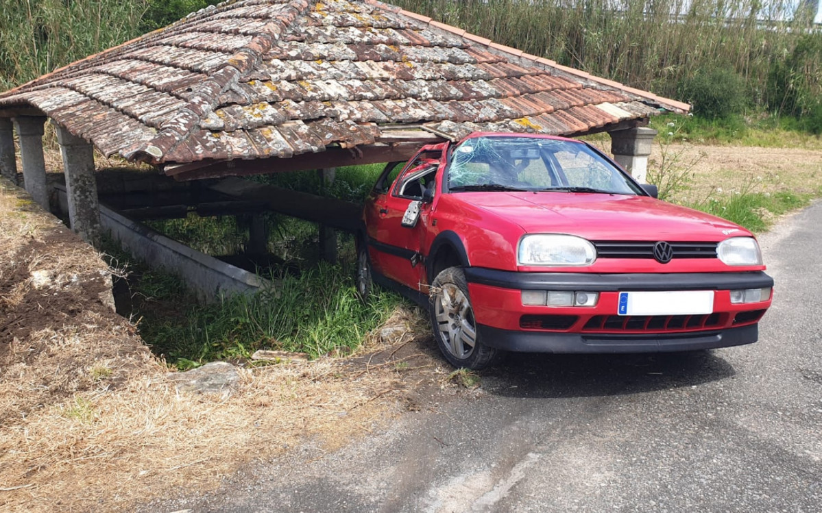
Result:
M701 69L681 80L678 89L695 114L709 119L740 114L749 103L745 79L726 68Z

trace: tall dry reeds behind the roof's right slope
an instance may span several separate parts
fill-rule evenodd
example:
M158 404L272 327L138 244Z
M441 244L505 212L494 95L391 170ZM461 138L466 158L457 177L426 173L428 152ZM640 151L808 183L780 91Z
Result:
M524 52L667 96L676 97L681 85L704 68L732 70L762 105L769 103L772 64L792 55L810 25L807 13L797 15L796 2L786 0L393 2ZM822 39L822 32L804 37ZM816 72L803 80L818 87L820 65L807 64Z

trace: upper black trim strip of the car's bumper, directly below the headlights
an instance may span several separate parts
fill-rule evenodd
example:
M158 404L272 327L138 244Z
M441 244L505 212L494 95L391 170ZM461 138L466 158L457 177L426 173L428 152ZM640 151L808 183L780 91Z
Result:
M726 291L774 286L761 271L748 273L518 273L465 268L470 283L506 289L552 291Z

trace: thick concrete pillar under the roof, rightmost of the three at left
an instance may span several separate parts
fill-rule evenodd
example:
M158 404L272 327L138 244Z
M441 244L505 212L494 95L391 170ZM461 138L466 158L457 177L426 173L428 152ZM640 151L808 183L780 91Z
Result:
M94 147L60 126L57 127L57 141L66 173L68 218L72 230L90 245L99 245L100 210Z

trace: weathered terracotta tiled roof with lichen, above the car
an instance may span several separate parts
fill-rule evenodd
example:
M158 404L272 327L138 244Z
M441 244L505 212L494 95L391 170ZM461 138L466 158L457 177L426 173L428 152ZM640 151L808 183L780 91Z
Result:
M237 0L0 94L107 155L288 158L397 126L580 134L689 106L376 0Z

